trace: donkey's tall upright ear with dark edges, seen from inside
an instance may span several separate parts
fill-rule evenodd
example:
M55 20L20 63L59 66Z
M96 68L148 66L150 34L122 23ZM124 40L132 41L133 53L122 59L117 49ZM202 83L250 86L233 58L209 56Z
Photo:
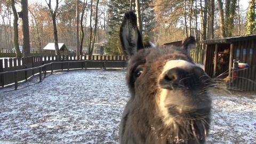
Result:
M126 12L120 28L120 41L126 59L130 59L138 50L143 49L137 18L133 12Z

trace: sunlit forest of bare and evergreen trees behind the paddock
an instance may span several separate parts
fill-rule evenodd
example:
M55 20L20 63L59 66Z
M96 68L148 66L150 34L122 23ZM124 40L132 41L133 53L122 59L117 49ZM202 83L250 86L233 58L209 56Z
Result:
M15 47L17 57L19 45L28 57L48 43L57 55L58 43L77 55L93 54L94 44L121 55L119 27L127 11L137 13L144 41L158 45L193 35L204 49L204 39L255 34L256 28L255 0L2 0L0 11L0 48Z

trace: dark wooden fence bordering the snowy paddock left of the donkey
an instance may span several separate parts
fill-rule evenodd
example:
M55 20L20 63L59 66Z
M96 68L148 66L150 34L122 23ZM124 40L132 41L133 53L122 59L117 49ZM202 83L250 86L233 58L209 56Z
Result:
M46 71L54 70L125 67L126 60L123 56L93 55L90 58L89 55L84 55L79 60L76 60L76 56L73 55L45 55L21 59L0 59L0 86L16 84L36 74L41 75L42 70L45 76ZM15 89L17 89L16 86Z

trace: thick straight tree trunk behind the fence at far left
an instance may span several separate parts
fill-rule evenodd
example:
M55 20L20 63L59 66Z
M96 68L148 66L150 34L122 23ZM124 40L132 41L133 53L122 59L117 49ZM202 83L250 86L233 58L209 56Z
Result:
M22 31L23 31L23 57L30 56L29 25L28 25L28 0L21 0Z

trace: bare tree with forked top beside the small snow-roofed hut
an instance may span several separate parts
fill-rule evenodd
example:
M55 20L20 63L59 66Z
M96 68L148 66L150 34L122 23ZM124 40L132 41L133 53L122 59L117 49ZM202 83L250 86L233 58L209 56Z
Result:
M45 0L45 2L47 3L46 0ZM55 6L54 11L53 11L52 6L51 6L51 0L49 0L49 3L47 3L47 5L49 7L49 11L50 11L51 16L52 16L55 54L60 55L60 50L59 50L59 45L58 45L57 24L56 24L57 11L58 11L58 7L59 7L59 0L56 0L56 6Z

